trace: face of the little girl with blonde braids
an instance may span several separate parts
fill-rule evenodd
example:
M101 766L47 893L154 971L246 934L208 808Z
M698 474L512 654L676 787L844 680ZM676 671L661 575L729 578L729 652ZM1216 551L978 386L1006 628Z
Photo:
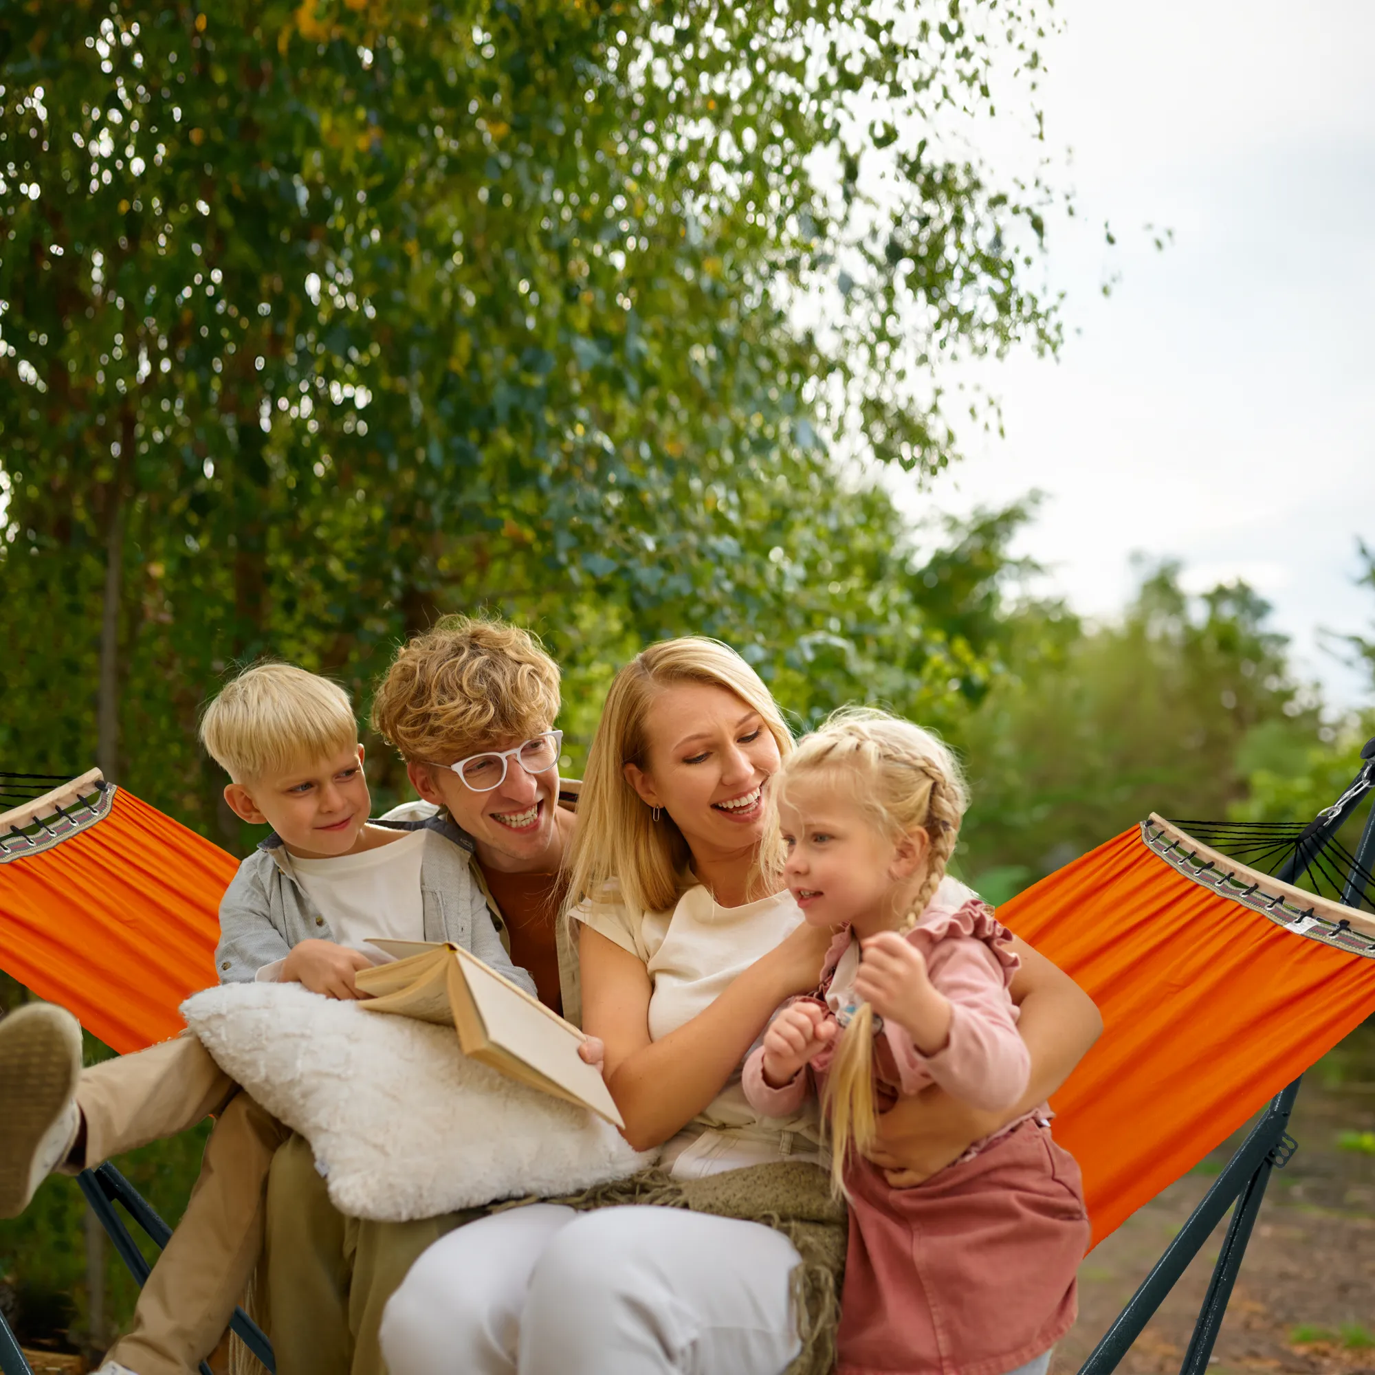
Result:
M854 925L870 935L896 924L925 866L925 832L894 843L824 776L788 784L778 803L784 880L815 927Z

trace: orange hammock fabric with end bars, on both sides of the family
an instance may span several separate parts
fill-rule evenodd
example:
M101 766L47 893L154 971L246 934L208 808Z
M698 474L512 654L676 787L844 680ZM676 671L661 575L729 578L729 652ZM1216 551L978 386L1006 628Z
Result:
M180 1002L216 982L235 868L87 774L0 817L0 968L117 1050L164 1040L182 1028ZM1103 1013L1103 1037L1053 1099L1094 1242L1375 1012L1375 920L1159 817L998 916Z

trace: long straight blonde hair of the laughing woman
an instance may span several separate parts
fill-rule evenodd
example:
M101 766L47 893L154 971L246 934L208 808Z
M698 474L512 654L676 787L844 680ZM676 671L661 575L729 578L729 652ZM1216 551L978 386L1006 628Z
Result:
M568 857L568 903L594 901L610 883L631 912L666 912L683 892L692 854L667 813L656 817L626 778L626 764L648 770L649 707L672 683L725 688L759 712L784 758L792 736L759 675L729 645L703 635L661 639L641 650L606 693L578 798L578 829Z

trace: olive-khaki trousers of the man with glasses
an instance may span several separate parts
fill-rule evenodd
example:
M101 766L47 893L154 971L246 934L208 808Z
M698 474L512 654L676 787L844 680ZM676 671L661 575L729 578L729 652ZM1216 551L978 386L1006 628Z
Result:
M422 1251L480 1216L345 1217L330 1203L309 1144L293 1136L272 1160L267 1191L265 1287L278 1375L384 1375L377 1332L386 1301ZM462 1367L462 1353L455 1363Z

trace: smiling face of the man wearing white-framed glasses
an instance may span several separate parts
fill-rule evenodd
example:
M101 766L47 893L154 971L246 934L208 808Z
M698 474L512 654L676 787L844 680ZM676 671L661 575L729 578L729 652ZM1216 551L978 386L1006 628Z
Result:
M514 749L524 736L483 740L463 758L488 749ZM456 760L454 760L456 763ZM528 774L514 760L506 760L506 777L491 792L473 792L452 769L410 763L406 767L415 791L426 800L447 807L448 814L477 842L477 857L494 869L520 873L536 869L560 852L558 767Z

